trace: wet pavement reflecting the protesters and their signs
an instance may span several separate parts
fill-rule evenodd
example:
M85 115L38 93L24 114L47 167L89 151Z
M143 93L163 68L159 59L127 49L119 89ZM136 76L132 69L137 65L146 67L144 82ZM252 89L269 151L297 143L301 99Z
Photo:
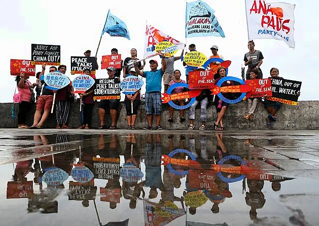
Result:
M3 226L318 226L319 131L0 129Z

